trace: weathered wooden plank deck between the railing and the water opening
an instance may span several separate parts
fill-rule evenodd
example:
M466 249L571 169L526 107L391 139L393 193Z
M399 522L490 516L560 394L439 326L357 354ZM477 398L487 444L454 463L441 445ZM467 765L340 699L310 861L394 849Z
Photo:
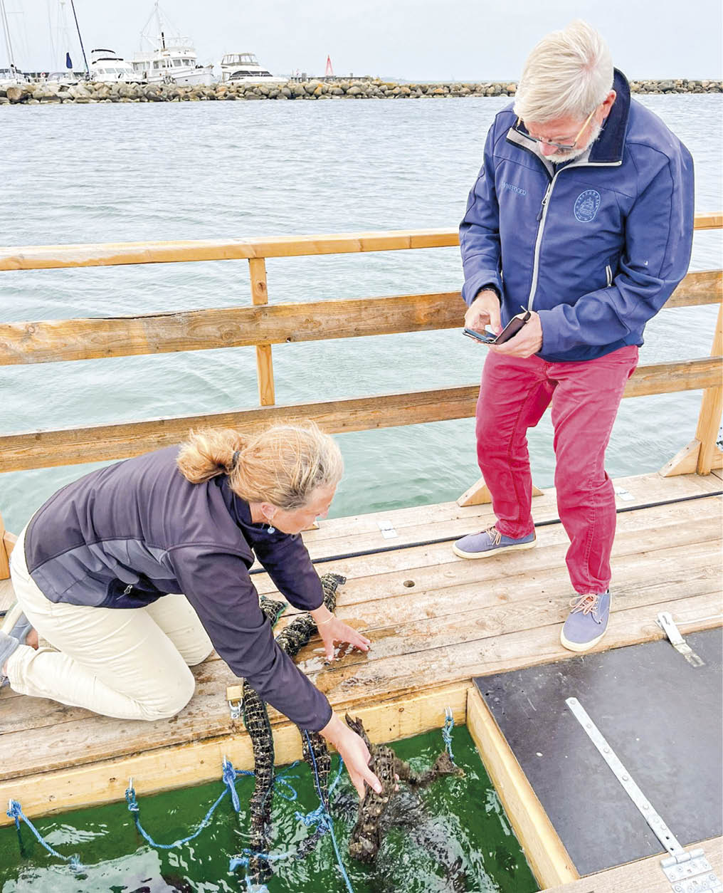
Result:
M616 487L625 492L618 499L622 511L612 556L613 613L598 649L661 638L655 618L663 610L684 634L719 626L719 472L647 474L618 480ZM535 498L533 511L536 549L483 561L457 558L448 540L485 526L490 505L447 503L331 519L306 533L319 572L347 578L338 615L373 643L369 655L352 652L328 666L318 639L300 655L304 672L334 708L394 701L399 714L410 714L396 720L399 728L385 731L403 737L412 716L415 730L424 725L415 705L441 714L449 703L463 720L473 676L571 656L559 642L571 592L564 563L568 539L552 490ZM397 536L384 538L379 522L390 523ZM420 543L426 545L414 545ZM350 556L360 552L365 554ZM265 574L254 580L260 592L274 591ZM5 687L0 798L15 797L28 814L37 814L72 808L80 797L87 802L83 779L96 779L90 799L105 802L123 796L131 774L137 789L149 792L216 777L222 753L243 761L248 741L226 703L226 687L236 677L215 654L195 668L195 677L190 704L159 722L113 720ZM434 697L421 697L425 692ZM298 735L280 714L272 722L283 762ZM428 727L439 724L438 716L429 716ZM175 775L172 785L168 772Z

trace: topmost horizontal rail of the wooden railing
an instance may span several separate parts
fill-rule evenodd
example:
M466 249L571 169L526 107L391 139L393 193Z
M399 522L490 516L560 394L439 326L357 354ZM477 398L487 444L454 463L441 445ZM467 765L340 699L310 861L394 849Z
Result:
M720 226L723 226L721 214L695 215L696 230L718 229ZM252 257L344 255L366 251L397 251L405 248L439 248L458 244L459 233L454 228L379 230L318 236L274 236L261 239L11 246L0 248L0 271L114 266L121 263L186 263Z

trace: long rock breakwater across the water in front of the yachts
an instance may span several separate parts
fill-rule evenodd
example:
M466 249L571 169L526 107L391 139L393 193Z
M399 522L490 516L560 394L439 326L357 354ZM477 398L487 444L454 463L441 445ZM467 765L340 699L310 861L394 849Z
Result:
M638 79L630 81L632 93L704 94L723 93L723 81L715 79ZM212 84L179 86L176 84L107 84L82 81L66 84L21 84L0 87L0 105L95 104L148 102L208 102L241 100L335 100L335 99L445 99L468 96L514 96L514 81L477 83L397 83L378 79L339 79L332 82L306 80L267 87L253 84Z

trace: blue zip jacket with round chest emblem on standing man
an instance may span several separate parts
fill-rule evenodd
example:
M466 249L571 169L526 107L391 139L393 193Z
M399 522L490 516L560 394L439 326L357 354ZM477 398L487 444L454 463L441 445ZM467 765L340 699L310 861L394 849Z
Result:
M686 275L693 160L657 115L617 98L586 160L553 169L512 112L494 119L460 227L462 296L502 296L503 324L539 313L548 361L591 360L643 344L645 323ZM585 156L582 156L585 158Z

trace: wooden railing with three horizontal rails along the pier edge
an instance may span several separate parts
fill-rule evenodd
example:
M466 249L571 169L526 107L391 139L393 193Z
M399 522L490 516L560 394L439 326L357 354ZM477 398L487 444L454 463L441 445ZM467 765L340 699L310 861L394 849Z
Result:
M698 215L695 219L696 230L722 226L723 215L720 214ZM251 274L251 305L110 319L0 323L0 365L255 346L260 404L228 413L5 434L0 436L0 471L138 455L178 443L190 428L230 426L239 430L257 430L270 421L310 418L329 432L341 432L474 415L477 384L280 406L275 405L274 396L271 345L457 328L461 327L464 308L459 292L269 305L265 258L445 247L456 245L457 241L457 230L404 230L257 241L0 248L0 271L247 259ZM720 270L689 273L666 306L719 303L721 288L723 272ZM694 441L698 448L686 447L685 468L697 468L704 474L720 461L715 449L723 355L720 325L719 313L711 356L642 365L628 382L625 392L629 397L698 388L705 390L701 421ZM693 469L689 467L691 456ZM681 472L671 466L667 473Z

